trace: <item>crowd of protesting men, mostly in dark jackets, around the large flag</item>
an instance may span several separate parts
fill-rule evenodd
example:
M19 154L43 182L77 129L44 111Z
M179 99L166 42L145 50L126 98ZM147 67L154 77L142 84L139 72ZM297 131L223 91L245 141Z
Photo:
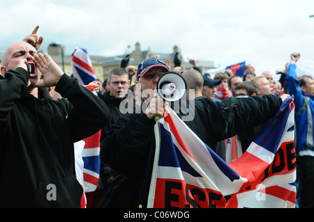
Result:
M98 91L94 95L64 74L49 55L37 53L43 42L37 30L38 26L23 41L10 45L2 58L0 207L81 207L83 189L75 178L73 143L100 129L100 180L98 189L87 193L87 207L144 207L155 150L154 125L169 105L152 95L160 75L170 71L181 74L187 92L193 90L186 102L193 105L195 116L184 122L225 161L233 160L226 152L228 144L237 141L240 156L283 100L294 95L296 206L314 207L314 80L297 77L299 54L291 54L279 81L268 71L257 75L253 65L246 65L243 77L231 70L211 77L193 58L193 68L181 70L177 54L174 68L158 56L138 67L128 65L125 58L108 79L91 82ZM142 93L136 100L136 90L152 93ZM122 111L125 100L131 100L132 109ZM58 187L54 201L47 194L51 185Z

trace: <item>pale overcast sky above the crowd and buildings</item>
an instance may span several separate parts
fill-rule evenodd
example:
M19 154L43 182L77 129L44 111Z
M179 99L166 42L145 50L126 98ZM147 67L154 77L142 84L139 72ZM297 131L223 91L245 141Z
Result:
M39 24L40 49L57 42L66 54L120 55L135 42L171 53L177 45L184 58L217 67L246 61L257 74L283 70L294 51L314 61L313 0L1 0L0 8L0 51Z

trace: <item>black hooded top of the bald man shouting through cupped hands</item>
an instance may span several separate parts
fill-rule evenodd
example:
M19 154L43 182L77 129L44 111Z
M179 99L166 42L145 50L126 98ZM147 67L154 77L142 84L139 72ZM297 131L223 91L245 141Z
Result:
M28 78L17 68L0 80L0 207L80 207L73 143L98 132L110 112L66 74L60 100L46 88L39 99L25 93Z

